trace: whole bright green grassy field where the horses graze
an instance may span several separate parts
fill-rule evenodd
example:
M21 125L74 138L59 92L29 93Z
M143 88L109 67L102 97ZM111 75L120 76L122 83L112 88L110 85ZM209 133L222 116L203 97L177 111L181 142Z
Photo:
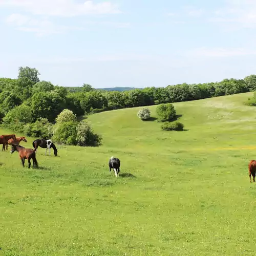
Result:
M139 108L91 115L103 145L39 148L36 170L0 152L0 255L255 255L250 95L175 103L183 132Z

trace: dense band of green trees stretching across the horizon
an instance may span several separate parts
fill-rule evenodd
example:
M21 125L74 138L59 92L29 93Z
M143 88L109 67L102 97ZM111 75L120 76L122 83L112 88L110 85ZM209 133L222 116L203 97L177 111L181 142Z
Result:
M96 90L90 84L83 84L79 90L72 92L68 90L70 88L54 86L50 81L40 81L39 75L35 68L20 67L17 79L0 78L1 122L14 132L31 134L31 125L36 122L39 126L54 124L59 113L65 109L79 117L107 110L256 91L256 75L244 79L182 83L165 88L151 87L122 92ZM36 127L34 130L37 136L41 135L40 129Z

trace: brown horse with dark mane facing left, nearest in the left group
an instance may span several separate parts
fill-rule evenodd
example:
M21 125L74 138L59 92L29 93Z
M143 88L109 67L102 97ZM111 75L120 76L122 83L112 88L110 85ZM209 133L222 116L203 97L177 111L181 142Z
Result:
M29 162L29 168L31 166L31 162L30 160L32 159L33 161L33 168L38 168L38 163L35 157L35 151L32 150L32 148L25 148L24 146L20 146L20 145L16 145L16 144L12 144L12 149L10 151L10 153L12 154L13 152L17 151L19 154L19 158L20 160L22 160L22 165L23 167L25 167L25 159L28 160Z

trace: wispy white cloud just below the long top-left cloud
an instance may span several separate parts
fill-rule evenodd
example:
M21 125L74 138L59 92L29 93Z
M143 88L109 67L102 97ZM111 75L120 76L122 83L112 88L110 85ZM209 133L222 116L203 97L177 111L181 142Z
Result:
M82 29L80 27L58 26L48 19L34 19L29 16L16 13L8 16L6 22L10 25L16 26L20 31L33 32L37 36L62 34L68 30Z

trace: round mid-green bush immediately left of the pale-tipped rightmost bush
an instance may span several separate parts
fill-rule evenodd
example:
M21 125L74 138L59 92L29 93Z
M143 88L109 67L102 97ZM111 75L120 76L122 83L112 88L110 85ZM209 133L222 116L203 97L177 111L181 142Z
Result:
M57 126L53 139L56 142L75 145L76 144L76 126L77 122L62 122Z

